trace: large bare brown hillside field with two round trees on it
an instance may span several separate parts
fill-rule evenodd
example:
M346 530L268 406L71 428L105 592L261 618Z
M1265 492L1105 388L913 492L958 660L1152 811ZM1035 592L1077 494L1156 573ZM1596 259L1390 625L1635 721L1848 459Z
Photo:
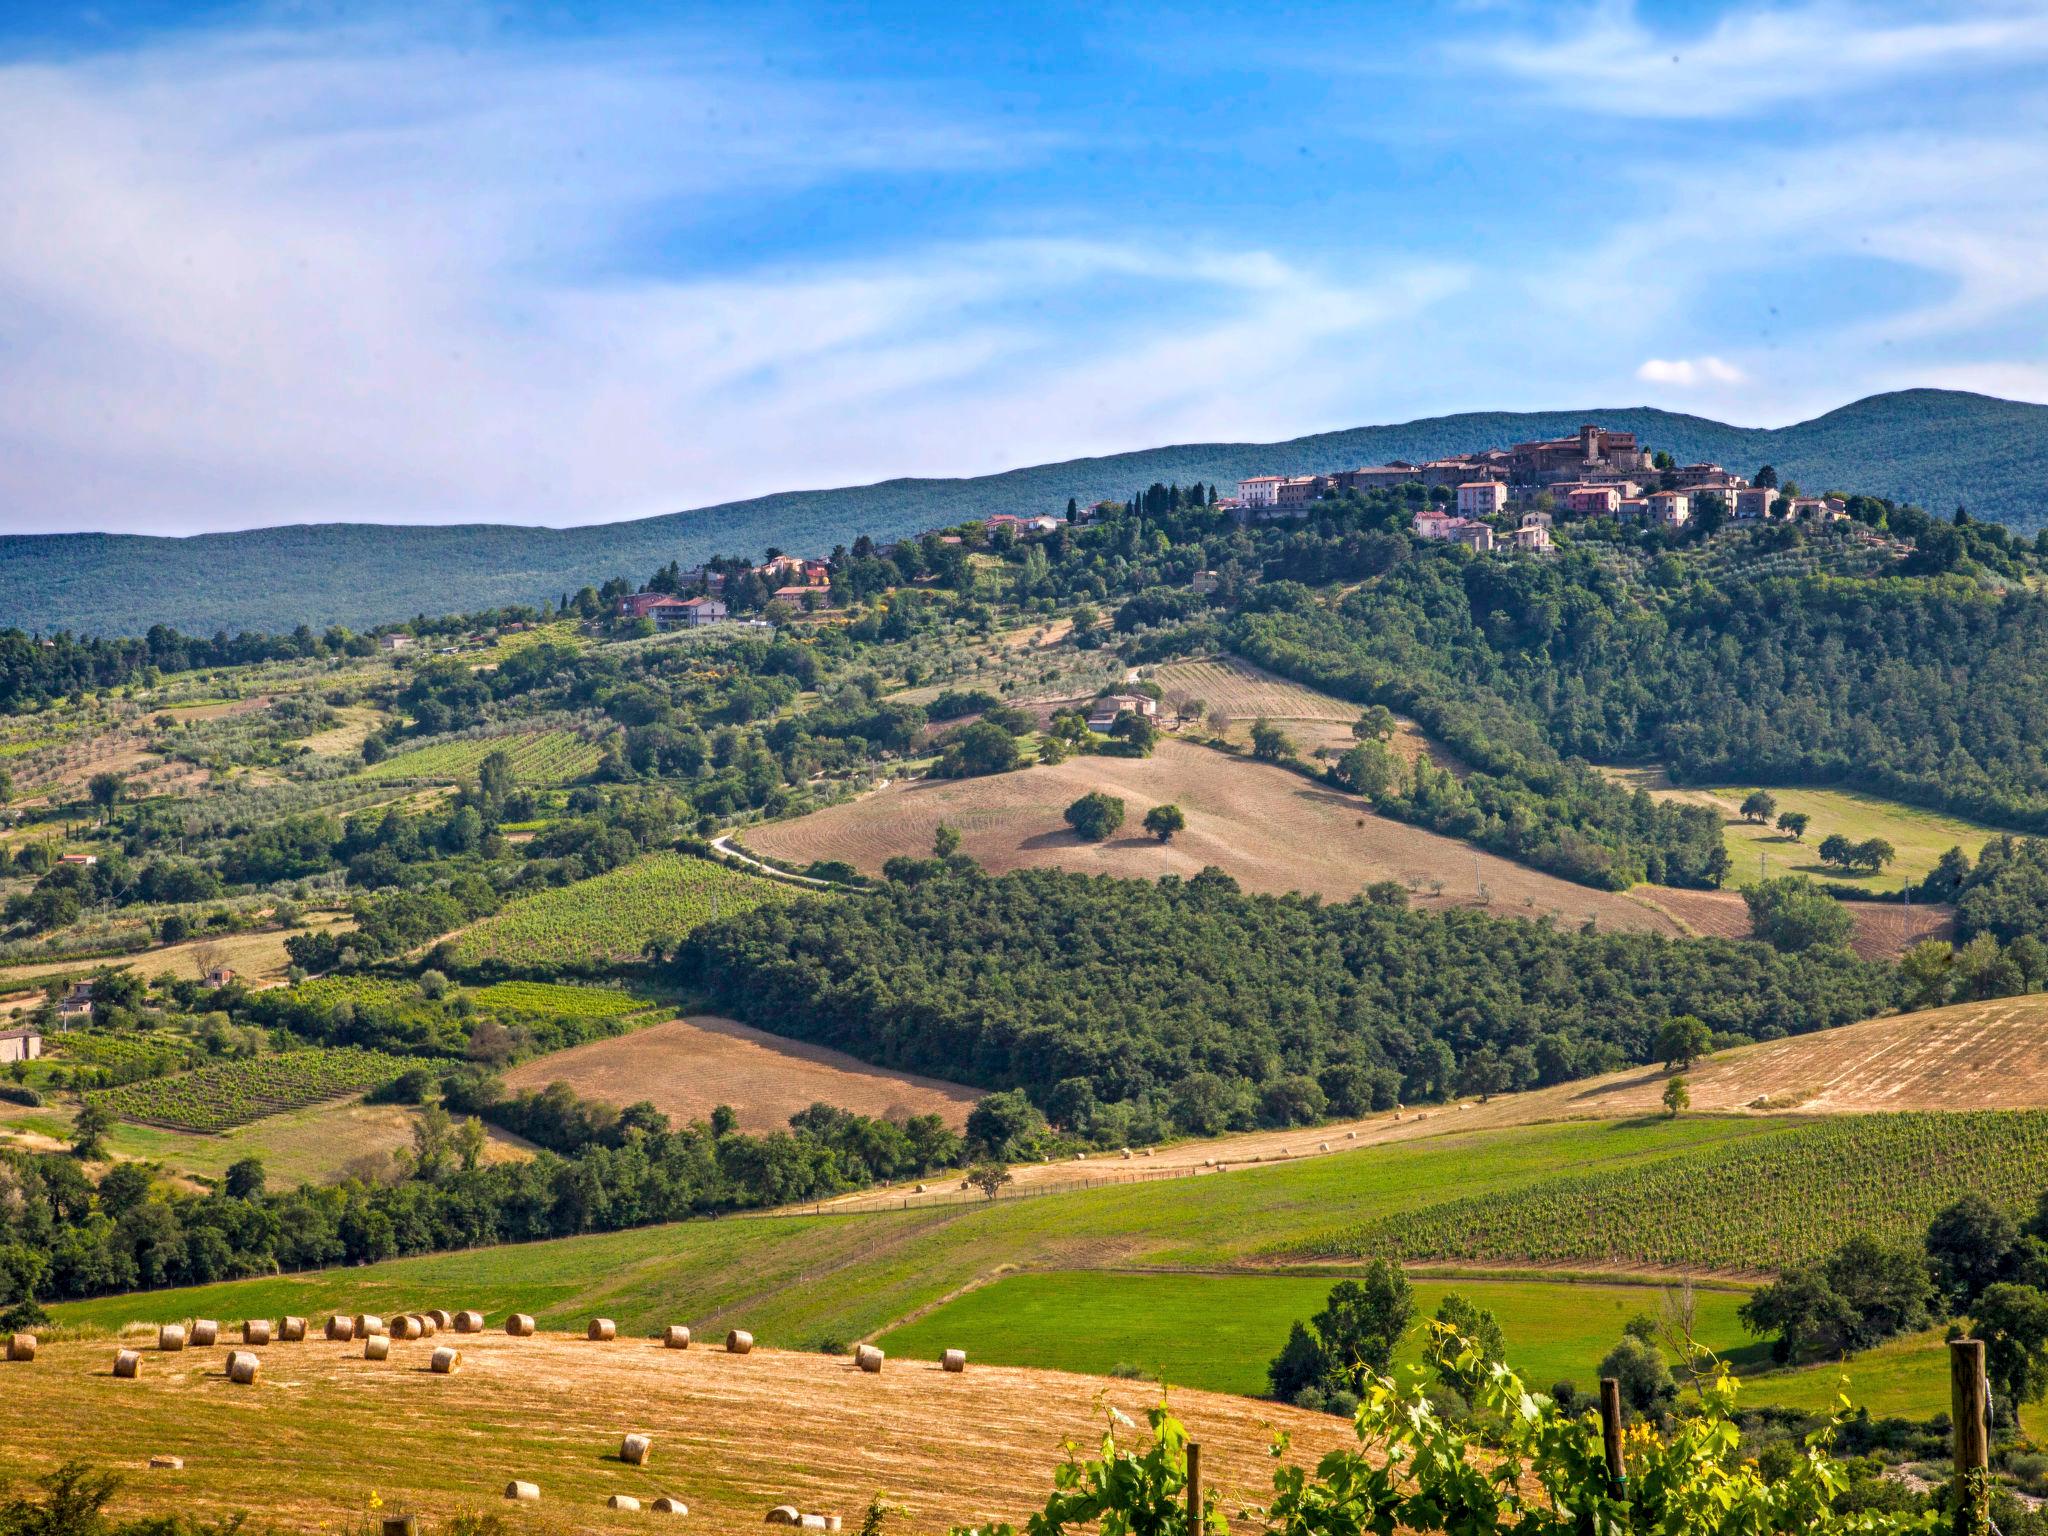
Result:
M1081 842L1061 813L1090 791L1120 795L1124 829ZM1153 805L1174 803L1188 829L1161 844L1139 827ZM891 854L926 854L940 823L993 872L1061 866L1087 874L1157 879L1229 870L1247 891L1358 895L1372 881L1399 881L1421 907L1485 905L1497 915L1677 934L1667 913L1612 891L1479 852L1454 838L1389 821L1352 797L1284 768L1161 741L1151 758L1071 758L991 778L899 782L797 821L750 829L754 852L805 864L844 858L879 872Z

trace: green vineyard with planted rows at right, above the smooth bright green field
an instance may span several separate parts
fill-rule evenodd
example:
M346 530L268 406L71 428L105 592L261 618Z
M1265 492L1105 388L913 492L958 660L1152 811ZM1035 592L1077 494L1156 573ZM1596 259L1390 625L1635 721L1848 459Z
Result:
M1325 1251L1776 1270L1855 1231L1913 1237L1962 1194L2017 1208L2044 1188L2048 1112L1843 1116L1374 1219Z

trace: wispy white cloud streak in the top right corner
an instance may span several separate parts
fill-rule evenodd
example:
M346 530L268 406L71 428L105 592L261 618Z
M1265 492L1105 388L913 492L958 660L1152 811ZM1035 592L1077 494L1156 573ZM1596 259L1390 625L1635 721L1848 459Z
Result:
M1747 117L1802 100L1862 111L1864 88L2048 57L2048 8L1892 20L1849 4L1753 6L1688 35L1653 31L1634 4L1608 0L1575 16L1544 12L1540 33L1501 39L1483 57L1552 102L1618 117Z

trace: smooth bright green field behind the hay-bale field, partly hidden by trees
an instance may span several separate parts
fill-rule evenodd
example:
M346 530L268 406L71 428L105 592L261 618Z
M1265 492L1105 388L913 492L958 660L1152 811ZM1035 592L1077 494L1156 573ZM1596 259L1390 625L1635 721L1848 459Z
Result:
M1266 1362L1288 1327L1323 1307L1335 1276L1305 1274L1018 1274L969 1290L877 1339L918 1360L967 1350L997 1366L1044 1366L1106 1376L1137 1368L1174 1386L1266 1393ZM1456 1290L1491 1311L1507 1358L1540 1389L1575 1380L1591 1389L1595 1366L1638 1315L1659 1315L1661 1286L1569 1280L1417 1278L1415 1327L1399 1360L1421 1358L1421 1319ZM1765 1352L1735 1317L1739 1290L1694 1290L1696 1337L1743 1366Z

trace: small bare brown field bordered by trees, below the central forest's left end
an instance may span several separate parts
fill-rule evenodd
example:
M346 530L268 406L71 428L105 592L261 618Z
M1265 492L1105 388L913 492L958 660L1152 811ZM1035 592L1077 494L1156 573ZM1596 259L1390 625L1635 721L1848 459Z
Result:
M813 1104L872 1116L942 1114L958 1128L981 1098L977 1087L870 1067L711 1014L537 1057L508 1071L506 1083L567 1083L610 1104L649 1100L678 1122L709 1120L713 1108L729 1104L739 1128L754 1133L786 1130L788 1116Z

